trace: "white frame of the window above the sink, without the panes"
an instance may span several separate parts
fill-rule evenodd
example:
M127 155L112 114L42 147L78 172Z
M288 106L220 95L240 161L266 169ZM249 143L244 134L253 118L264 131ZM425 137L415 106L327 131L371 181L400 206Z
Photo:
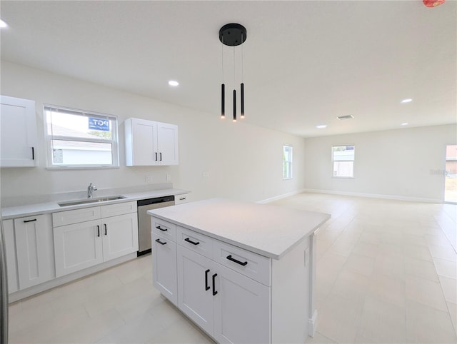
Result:
M48 127L52 125L48 121L48 111L69 113L82 117L109 119L111 121L111 140L106 138L80 138L75 136L61 136L48 133ZM108 113L99 113L94 111L80 110L76 108L69 108L66 106L57 106L44 103L43 104L43 119L44 119L44 136L46 140L46 169L49 170L81 170L81 169L109 169L119 168L119 125L118 117ZM71 164L71 165L56 165L54 164L54 148L52 141L76 141L86 143L109 143L111 144L111 164Z

